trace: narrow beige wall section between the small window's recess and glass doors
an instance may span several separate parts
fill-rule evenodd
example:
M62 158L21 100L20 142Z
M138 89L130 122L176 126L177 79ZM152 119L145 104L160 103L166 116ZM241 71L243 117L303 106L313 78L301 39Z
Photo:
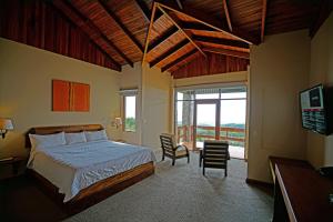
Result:
M160 134L172 131L172 78L158 68L142 67L142 145L159 150Z

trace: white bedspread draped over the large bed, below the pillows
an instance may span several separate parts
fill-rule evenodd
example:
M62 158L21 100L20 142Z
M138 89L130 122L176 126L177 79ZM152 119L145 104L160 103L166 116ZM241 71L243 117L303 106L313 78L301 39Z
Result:
M155 161L155 157L148 148L104 140L37 147L30 152L28 168L58 186L59 192L64 193L63 202L67 202L100 180L150 161Z

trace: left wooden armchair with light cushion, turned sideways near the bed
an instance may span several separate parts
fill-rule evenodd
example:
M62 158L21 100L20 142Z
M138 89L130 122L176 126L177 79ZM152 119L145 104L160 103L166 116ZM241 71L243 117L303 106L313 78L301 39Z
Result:
M161 147L162 147L162 161L165 157L172 159L172 165L176 159L188 158L188 163L190 162L190 153L185 145L179 145L175 143L174 135L169 133L162 133L160 135Z

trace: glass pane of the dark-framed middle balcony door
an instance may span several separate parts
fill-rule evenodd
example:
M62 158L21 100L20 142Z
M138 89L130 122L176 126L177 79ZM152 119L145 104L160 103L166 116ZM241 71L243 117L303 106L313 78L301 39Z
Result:
M196 147L215 139L216 104L196 104Z

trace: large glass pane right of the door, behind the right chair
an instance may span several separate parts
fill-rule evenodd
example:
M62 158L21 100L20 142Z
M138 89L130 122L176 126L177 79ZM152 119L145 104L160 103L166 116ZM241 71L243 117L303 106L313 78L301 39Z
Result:
M221 100L221 140L244 148L246 100Z

